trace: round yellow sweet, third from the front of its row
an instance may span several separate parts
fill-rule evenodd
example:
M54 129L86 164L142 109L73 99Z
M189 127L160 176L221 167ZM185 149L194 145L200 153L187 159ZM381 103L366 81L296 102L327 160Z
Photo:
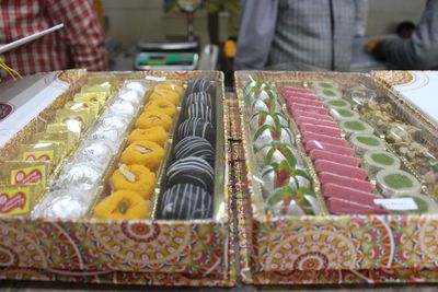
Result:
M164 157L164 149L151 141L137 141L122 153L120 162L127 165L141 164L155 172Z

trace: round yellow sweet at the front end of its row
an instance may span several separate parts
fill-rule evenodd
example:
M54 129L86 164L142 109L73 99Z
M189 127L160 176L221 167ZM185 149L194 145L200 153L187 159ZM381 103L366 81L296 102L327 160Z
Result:
M99 219L146 219L150 214L150 201L131 190L115 191L94 208Z

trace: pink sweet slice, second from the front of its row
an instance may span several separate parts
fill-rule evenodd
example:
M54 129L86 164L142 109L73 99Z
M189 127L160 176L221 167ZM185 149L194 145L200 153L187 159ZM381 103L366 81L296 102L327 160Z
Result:
M322 186L322 194L324 197L338 198L351 202L364 203L372 206L374 199L381 199L380 195L368 191L357 190L353 187L339 186L336 184L325 184Z

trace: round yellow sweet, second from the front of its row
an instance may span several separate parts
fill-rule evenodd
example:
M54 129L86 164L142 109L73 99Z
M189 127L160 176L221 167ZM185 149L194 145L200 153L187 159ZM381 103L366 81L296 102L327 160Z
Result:
M146 166L139 164L126 165L126 170L135 175L135 182L130 182L120 170L114 172L112 183L115 190L132 190L145 199L149 199L155 186L155 174Z

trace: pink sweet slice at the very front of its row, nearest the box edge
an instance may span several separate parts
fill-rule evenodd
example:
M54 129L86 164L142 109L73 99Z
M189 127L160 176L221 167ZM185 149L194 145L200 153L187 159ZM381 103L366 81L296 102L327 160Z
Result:
M328 198L327 208L332 214L385 214L387 211L377 205L362 205L339 198Z

